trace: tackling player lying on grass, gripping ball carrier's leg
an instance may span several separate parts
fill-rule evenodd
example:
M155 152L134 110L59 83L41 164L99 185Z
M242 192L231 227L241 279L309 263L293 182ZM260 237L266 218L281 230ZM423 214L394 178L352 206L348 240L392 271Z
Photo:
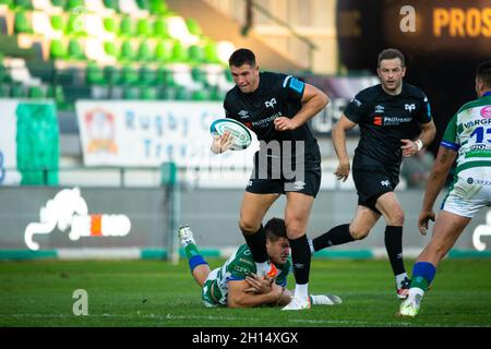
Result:
M254 258L247 244L240 245L221 267L211 270L208 263L196 248L189 226L179 228L179 238L189 260L194 280L202 287L206 306L225 305L244 308L259 305L285 305L292 293L286 289L291 269L290 245L286 234L285 220L272 218L264 227L266 249L272 272L259 277ZM342 302L334 294L310 294L312 304L333 305Z

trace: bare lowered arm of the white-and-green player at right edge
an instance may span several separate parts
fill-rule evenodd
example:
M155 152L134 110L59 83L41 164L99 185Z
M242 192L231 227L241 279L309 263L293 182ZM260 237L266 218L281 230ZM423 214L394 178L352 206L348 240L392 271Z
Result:
M434 221L433 204L445 184L446 177L452 168L452 165L457 157L457 152L441 146L436 160L431 170L430 178L428 179L427 190L424 192L424 198L421 207L421 213L418 218L418 228L422 234L427 233L429 220Z

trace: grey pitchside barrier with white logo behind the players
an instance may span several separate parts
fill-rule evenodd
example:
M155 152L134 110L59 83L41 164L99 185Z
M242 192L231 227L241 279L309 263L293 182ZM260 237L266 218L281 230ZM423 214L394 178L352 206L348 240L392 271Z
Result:
M207 256L227 256L244 243L238 229L242 189L178 185L172 166L154 188L0 186L0 258L168 258L182 256L179 224L189 224ZM167 174L166 174L167 173ZM166 177L167 176L167 177ZM429 241L417 229L423 192L398 191L406 213L404 251L415 257ZM439 202L443 198L441 195ZM357 205L352 190L322 190L308 236L349 222ZM267 214L283 217L285 197ZM438 209L436 209L438 210ZM383 220L368 238L318 252L315 257L385 257ZM491 213L481 210L450 257L491 256Z

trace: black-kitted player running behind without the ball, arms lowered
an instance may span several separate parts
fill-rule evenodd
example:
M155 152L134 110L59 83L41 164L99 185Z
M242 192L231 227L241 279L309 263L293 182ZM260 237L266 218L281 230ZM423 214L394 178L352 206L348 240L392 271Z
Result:
M352 178L358 193L358 208L352 221L337 226L313 239L314 251L366 238L381 215L387 224L385 248L396 277L399 299L407 297L409 279L403 261L404 212L394 193L399 182L402 157L415 155L430 145L435 134L430 105L424 93L403 82L406 74L399 50L385 49L379 55L381 84L361 91L347 106L333 128L333 143L338 157L335 174L346 181L349 158L346 132L359 124L361 139L352 160ZM411 127L421 133L411 141Z

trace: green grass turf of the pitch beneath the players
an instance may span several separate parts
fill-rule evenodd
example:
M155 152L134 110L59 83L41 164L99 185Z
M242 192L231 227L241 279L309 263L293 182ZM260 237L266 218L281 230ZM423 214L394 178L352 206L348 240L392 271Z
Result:
M211 260L212 267L219 263ZM338 294L344 303L303 312L205 308L185 261L2 262L0 327L491 326L490 272L490 258L443 261L420 314L408 320L395 316L399 301L387 261L314 260L310 291ZM88 293L87 316L73 314L76 289Z

